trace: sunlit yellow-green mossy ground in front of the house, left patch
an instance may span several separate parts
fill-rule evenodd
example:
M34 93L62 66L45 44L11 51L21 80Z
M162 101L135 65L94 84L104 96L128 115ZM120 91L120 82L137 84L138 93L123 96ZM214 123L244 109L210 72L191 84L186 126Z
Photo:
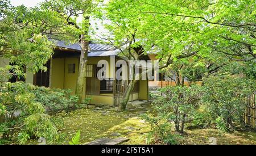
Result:
M146 134L150 132L150 125L143 123L131 112L80 109L69 113L62 112L55 117L64 120L61 133L65 135L65 139L59 144L68 144L79 130L81 144L102 137L127 137L130 140L123 144L145 144ZM119 133L119 136L112 136L113 133Z

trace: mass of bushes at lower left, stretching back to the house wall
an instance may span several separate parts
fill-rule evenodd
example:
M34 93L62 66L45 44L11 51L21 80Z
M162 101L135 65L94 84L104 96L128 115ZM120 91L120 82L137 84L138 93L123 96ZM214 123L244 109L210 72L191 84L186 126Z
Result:
M77 102L69 91L37 87L24 82L5 82L10 76L1 68L0 79L0 144L44 137L57 140L57 123L46 113L70 109Z

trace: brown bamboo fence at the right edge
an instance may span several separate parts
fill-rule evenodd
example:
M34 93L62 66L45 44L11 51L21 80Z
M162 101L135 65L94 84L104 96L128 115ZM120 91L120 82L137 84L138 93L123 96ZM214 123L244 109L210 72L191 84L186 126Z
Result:
M255 92L247 96L246 109L245 109L245 124L255 128Z

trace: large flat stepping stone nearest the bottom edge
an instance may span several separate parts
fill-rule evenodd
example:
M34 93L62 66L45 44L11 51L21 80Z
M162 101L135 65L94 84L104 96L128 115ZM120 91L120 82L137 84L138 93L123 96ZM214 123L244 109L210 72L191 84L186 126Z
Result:
M119 138L99 138L97 140L94 140L92 142L89 142L86 145L117 145L121 144L122 142L129 141L129 138L125 137L119 137Z

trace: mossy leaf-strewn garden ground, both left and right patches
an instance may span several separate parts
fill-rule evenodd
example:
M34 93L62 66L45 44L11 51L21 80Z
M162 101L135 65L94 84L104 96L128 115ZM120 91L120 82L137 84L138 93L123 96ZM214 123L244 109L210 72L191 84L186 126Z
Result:
M136 112L115 112L109 110L80 109L59 113L64 120L61 133L64 139L56 144L68 144L77 131L81 130L80 142L86 144L102 137L127 137L123 144L146 144L150 125L144 123ZM118 133L118 136L112 136ZM209 144L209 138L216 137L217 144L256 144L255 132L223 133L216 129L186 130L180 144Z

